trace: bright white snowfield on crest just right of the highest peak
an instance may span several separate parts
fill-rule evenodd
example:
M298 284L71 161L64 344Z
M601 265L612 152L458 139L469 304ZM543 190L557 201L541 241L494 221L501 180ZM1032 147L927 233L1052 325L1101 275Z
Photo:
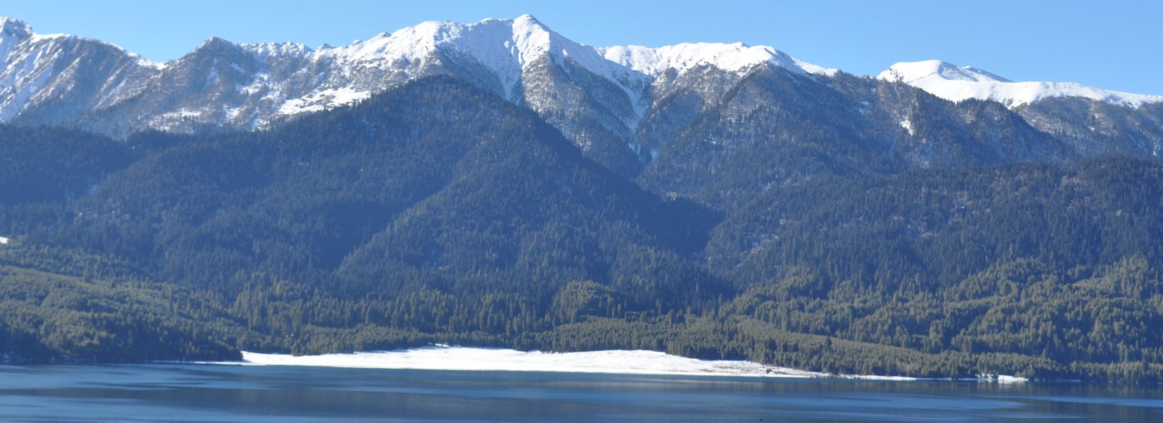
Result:
M775 64L799 73L825 76L836 73L834 69L826 69L799 60L770 46L750 46L743 43L683 43L659 48L615 45L597 50L606 59L650 77L658 77L670 69L685 72L705 65L726 71L741 72L762 63Z

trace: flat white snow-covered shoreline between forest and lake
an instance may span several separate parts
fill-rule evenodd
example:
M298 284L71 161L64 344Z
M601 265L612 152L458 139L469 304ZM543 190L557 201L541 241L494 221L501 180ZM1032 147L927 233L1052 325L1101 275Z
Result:
M313 366L442 371L568 372L756 378L840 378L915 381L918 378L808 372L741 360L699 360L657 351L587 351L550 353L505 349L433 345L409 350L322 356L242 353L242 361L206 363L242 366ZM1022 378L983 377L980 381L1022 382Z

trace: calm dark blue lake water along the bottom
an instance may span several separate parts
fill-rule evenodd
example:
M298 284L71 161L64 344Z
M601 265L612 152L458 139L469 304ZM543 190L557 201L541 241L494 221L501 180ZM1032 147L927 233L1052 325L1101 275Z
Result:
M354 370L0 366L0 422L1163 422L1157 387Z

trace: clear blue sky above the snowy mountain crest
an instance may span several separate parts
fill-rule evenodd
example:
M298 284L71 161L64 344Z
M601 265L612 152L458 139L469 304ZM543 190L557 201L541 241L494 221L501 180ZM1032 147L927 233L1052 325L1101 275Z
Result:
M5 1L37 33L107 41L169 60L211 36L348 44L423 21L529 13L590 45L771 45L855 74L943 59L1013 80L1163 95L1163 1Z

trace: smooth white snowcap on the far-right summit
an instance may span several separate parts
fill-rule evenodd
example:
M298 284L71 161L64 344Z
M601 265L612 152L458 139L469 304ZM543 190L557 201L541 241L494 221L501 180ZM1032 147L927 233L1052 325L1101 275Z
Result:
M877 78L905 83L949 101L992 100L1011 108L1057 96L1080 96L1127 107L1163 102L1160 95L1123 93L1075 83L1015 83L979 69L958 67L941 60L898 63Z

